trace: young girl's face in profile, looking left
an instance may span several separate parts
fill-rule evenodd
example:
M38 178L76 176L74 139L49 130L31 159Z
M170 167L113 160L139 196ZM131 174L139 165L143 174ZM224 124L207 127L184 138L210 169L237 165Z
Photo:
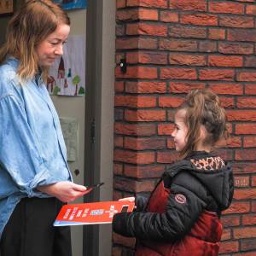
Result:
M187 143L188 127L184 123L186 111L180 109L174 116L175 129L172 131L172 137L175 143L175 149L177 152L183 150Z

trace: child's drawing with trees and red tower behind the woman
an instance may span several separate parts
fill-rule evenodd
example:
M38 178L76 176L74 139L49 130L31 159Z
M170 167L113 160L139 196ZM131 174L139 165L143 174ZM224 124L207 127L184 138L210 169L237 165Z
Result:
M63 46L64 55L49 69L47 90L51 95L85 94L85 38L70 36Z

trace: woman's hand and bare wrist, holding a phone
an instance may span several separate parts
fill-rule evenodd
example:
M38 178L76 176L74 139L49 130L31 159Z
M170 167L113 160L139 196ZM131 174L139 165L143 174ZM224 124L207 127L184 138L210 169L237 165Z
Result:
M46 186L38 186L37 189L45 194L55 196L62 202L74 201L92 190L86 189L86 187L82 185L69 181L61 181Z

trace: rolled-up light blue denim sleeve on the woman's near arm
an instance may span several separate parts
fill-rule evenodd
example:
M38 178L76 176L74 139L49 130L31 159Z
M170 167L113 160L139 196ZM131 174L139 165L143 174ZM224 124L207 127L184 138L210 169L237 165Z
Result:
M15 95L0 99L0 161L21 193L38 195L39 184L55 183L40 154L26 118L26 108Z

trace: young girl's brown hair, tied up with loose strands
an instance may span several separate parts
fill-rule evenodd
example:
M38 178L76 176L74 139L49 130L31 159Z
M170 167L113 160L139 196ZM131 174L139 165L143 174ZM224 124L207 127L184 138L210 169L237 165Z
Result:
M184 121L188 126L187 143L180 152L182 157L187 157L196 150L196 145L201 139L201 125L207 131L204 145L214 146L219 139L229 137L226 113L212 90L191 90L177 111L182 109L185 110Z

